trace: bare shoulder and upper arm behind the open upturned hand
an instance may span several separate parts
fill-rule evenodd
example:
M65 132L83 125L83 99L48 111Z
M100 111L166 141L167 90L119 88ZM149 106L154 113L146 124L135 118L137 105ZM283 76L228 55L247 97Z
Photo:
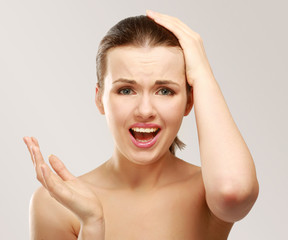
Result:
M73 225L77 218L44 188L38 188L30 202L30 239L77 239Z

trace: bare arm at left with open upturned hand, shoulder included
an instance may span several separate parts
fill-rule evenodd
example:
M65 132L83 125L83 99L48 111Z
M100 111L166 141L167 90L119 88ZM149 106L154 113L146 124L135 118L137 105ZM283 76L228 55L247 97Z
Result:
M104 216L94 188L74 177L56 157L49 162L56 173L45 163L35 138L25 137L36 176L43 185L33 195L30 206L31 239L77 239L71 219L81 224L78 239L103 240ZM70 223L70 224L69 224Z

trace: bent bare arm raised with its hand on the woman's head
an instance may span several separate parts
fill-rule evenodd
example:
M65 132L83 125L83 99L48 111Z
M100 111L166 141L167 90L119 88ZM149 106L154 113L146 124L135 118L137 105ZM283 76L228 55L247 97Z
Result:
M187 81L193 88L208 206L223 221L240 220L258 196L255 166L214 78L202 39L176 18L147 14L173 32L183 49Z

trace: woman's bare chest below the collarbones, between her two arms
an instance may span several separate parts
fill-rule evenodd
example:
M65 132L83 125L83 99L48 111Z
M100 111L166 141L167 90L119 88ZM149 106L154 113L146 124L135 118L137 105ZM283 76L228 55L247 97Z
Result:
M109 240L200 240L209 222L203 193L179 186L151 193L114 192L104 198L103 208Z

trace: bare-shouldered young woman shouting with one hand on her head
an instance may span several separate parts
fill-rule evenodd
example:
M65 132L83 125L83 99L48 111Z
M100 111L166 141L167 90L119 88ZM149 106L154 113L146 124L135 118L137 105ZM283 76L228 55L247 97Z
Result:
M225 103L201 37L147 11L124 19L97 54L96 105L115 147L74 177L24 141L43 187L31 201L31 239L223 240L258 195L253 159ZM175 156L194 104L201 168Z

